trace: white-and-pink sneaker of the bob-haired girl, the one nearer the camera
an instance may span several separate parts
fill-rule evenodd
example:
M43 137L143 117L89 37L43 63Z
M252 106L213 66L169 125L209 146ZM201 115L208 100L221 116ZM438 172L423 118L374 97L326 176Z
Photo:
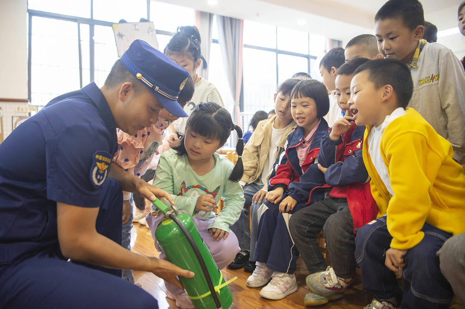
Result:
M260 291L260 296L268 299L283 299L297 291L298 286L295 275L275 271L270 283Z

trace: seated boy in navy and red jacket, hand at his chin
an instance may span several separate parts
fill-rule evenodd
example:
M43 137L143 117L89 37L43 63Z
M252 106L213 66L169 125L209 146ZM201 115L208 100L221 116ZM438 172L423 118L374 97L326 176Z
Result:
M347 105L353 72L366 61L352 59L337 71L336 96L345 116L321 139L318 154L318 167L333 188L323 201L297 211L289 220L292 239L312 273L306 278L311 290L304 298L306 306L321 305L343 296L355 276L355 234L378 212L362 159L365 126L353 122ZM316 240L321 230L332 267L326 266Z

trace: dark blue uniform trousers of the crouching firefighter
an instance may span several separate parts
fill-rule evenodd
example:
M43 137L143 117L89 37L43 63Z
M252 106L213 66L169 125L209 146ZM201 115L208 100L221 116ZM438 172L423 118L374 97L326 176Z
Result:
M103 186L96 228L121 243L121 187L113 178ZM56 252L44 248L0 266L0 308L158 308L150 294L121 279L121 270L70 263Z

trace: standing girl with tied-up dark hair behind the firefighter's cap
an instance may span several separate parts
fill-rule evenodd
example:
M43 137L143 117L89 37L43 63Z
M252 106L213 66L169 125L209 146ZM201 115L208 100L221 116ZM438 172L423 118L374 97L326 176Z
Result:
M200 102L215 102L221 107L225 107L223 99L216 89L215 85L201 78L197 69L202 66L207 68L207 63L200 50L200 34L195 26L179 26L176 34L166 45L164 53L176 62L179 66L185 68L194 79L195 92L190 102L184 106L187 115ZM186 132L187 118L179 118L169 127L170 136L168 143L171 147L179 145L179 137Z

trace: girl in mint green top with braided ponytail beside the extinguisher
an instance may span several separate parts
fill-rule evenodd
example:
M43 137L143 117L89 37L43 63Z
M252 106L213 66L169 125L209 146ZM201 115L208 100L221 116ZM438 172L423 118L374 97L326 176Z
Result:
M236 131L238 161L234 165L216 151ZM244 205L244 191L239 184L243 174L242 130L233 124L230 113L216 103L197 105L186 124L186 134L177 147L161 154L153 185L167 191L178 209L193 217L200 236L206 242L221 270L239 252L237 237L229 226L234 224ZM216 217L212 211L220 198L225 207ZM155 240L155 230L163 216L147 217L147 226ZM157 241L155 247L161 252ZM163 252L160 258L163 258ZM185 292L165 283L166 295L180 308L192 306Z

